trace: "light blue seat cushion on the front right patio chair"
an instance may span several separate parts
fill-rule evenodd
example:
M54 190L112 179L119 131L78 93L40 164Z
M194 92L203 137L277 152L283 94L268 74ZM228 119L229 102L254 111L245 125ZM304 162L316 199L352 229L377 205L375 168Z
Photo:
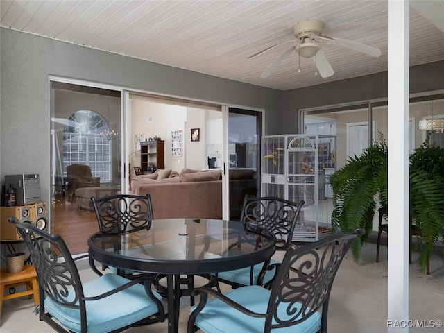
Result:
M268 307L268 299L270 298L268 289L260 286L246 286L234 289L225 294L228 298L234 300L258 313L265 314ZM195 307L191 307L193 311ZM287 317L287 307L280 307L279 317ZM205 307L196 316L196 326L205 333L263 333L265 318L254 318L241 313L234 307L226 305L218 298L209 300ZM313 316L307 318L302 323L289 327L282 327L273 330L273 333L315 333L321 329L321 314L315 312Z

